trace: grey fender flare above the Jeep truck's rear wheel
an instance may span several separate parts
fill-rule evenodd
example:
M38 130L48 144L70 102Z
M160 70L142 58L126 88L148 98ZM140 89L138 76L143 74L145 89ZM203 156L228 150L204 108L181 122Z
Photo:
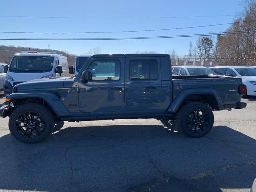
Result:
M224 104L222 102L222 98L220 97L219 92L216 89L212 88L200 88L200 89L186 89L181 91L175 99L172 101L170 106L168 107L169 113L176 113L178 108L185 100L185 98L189 95L213 95L218 104L218 110L224 109Z

